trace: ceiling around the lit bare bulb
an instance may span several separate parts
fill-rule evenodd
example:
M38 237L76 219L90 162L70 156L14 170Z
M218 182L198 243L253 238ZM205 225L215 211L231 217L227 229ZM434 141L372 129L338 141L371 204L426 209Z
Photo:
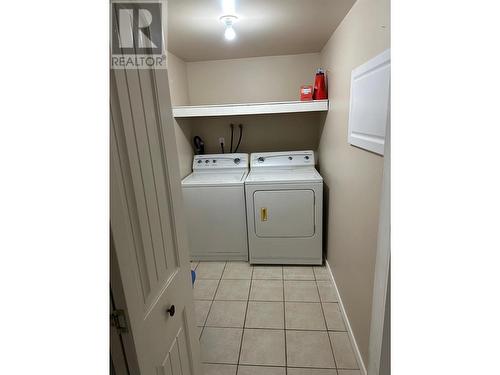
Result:
M169 0L168 50L185 61L320 52L354 2ZM233 12L237 37L228 42L219 17Z

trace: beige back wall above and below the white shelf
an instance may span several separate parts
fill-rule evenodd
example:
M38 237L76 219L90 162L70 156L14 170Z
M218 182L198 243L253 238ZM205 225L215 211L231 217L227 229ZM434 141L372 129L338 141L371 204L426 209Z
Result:
M319 53L190 62L187 63L190 104L298 100L300 86L312 84L319 64ZM218 153L219 137L226 139L229 149L231 122L244 125L238 150L241 152L318 147L320 115L317 113L193 119L192 135L203 138L206 152Z

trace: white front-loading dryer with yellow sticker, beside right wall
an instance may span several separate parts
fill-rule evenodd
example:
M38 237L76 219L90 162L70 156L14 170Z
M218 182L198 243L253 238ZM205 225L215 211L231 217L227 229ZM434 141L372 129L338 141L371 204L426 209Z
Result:
M251 154L245 192L250 263L322 263L323 178L313 151Z

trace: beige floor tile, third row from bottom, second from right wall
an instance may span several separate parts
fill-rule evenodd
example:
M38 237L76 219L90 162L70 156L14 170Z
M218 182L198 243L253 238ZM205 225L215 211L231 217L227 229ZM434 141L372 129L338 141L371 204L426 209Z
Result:
M286 329L326 331L320 303L285 302Z

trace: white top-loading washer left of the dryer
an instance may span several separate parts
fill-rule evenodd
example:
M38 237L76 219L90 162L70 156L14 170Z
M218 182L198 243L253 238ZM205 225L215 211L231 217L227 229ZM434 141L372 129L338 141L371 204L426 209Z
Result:
M248 154L195 155L182 180L192 260L248 260Z

